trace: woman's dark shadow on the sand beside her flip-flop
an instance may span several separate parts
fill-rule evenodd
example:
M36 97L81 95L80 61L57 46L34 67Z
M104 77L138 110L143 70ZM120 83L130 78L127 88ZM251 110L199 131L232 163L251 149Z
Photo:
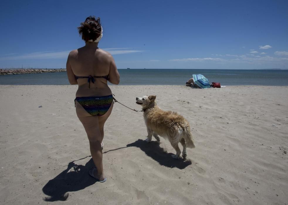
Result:
M88 170L94 166L92 158L85 166L77 165L74 163L75 161L78 160L70 162L66 170L45 184L42 191L49 196L44 198L45 201L65 201L69 196L67 192L84 189L96 182L96 180L92 180L88 175Z

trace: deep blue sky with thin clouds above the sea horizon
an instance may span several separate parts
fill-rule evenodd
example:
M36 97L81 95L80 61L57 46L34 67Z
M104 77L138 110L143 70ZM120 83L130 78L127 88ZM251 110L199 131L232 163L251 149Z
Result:
M65 68L101 18L118 69L288 69L288 1L0 2L0 68Z

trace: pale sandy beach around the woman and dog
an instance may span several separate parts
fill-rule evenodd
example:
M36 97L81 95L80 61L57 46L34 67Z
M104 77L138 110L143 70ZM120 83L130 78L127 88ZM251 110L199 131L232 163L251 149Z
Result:
M116 102L104 127L107 181L96 182L77 86L1 85L0 204L287 204L287 86L110 87L128 107L156 95L186 117L189 160L173 159L163 138L146 143L143 113Z

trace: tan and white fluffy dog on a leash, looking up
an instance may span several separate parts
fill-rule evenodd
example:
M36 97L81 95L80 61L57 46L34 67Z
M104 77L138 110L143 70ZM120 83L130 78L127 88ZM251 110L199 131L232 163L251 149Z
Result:
M189 122L177 112L161 110L161 108L157 106L155 99L155 95L136 98L136 103L141 105L144 111L143 115L148 132L146 142L150 142L152 136L154 136L157 141L160 141L158 135L169 139L172 147L176 150L176 155L172 155L175 159L178 159L181 154L178 146L180 142L183 146L182 157L186 158L186 148L195 147Z

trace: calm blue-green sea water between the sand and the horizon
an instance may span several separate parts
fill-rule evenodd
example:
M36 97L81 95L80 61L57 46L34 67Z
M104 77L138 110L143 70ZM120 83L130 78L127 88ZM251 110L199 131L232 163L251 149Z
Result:
M228 69L118 69L119 85L185 85L192 74L202 74L221 86L288 86L288 70ZM97 80L97 79L96 79ZM0 76L2 85L69 85L66 72Z

